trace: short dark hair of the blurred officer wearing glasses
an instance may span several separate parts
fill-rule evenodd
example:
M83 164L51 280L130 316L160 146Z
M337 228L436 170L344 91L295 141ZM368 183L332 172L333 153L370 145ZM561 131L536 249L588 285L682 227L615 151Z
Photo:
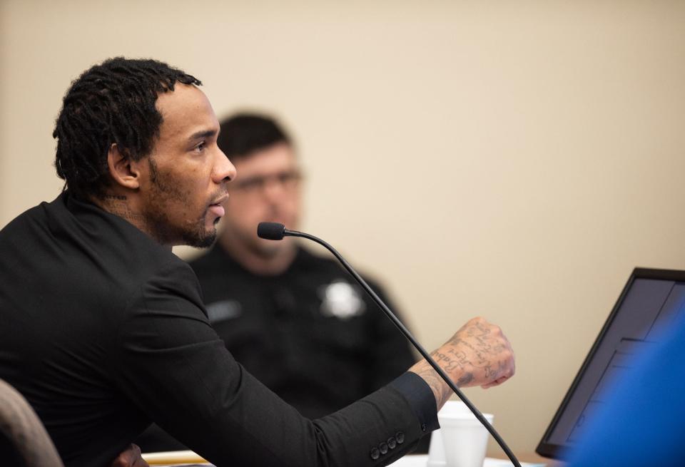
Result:
M216 143L232 160L249 157L277 143L293 144L274 118L258 113L236 113L222 120L220 126Z

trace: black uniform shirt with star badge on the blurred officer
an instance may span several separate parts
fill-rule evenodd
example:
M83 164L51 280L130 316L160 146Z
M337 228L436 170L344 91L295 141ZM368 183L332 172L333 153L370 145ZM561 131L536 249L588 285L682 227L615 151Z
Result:
M258 276L217 244L191 267L231 354L304 416L342 409L415 361L400 331L333 260L298 247L285 272Z

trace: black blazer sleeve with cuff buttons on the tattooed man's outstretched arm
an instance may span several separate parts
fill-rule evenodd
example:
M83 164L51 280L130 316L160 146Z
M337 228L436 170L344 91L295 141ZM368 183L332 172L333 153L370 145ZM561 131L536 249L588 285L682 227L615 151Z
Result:
M425 434L416 401L392 384L322 419L300 416L225 349L184 266L171 262L128 299L111 352L118 389L179 441L217 466L360 467L394 461ZM428 386L412 384L435 417Z

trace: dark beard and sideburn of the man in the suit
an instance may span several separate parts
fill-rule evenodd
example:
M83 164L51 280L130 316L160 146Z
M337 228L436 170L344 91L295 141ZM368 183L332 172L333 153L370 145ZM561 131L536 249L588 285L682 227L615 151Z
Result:
M161 174L152 158L148 160L150 179L155 188L151 193L149 208L145 213L148 229L163 244L173 244L180 239L183 245L196 248L210 247L216 239L216 229L205 228L207 210L204 210L196 220L185 222L183 225L174 225L167 212L168 202L177 201L183 205L187 202L189 195L183 193L173 180L168 180L167 175Z

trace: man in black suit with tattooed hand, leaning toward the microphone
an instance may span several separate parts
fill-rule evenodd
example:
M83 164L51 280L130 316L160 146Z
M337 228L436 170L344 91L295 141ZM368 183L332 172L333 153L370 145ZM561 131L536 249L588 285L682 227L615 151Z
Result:
M68 467L108 466L152 421L218 466L394 461L437 428L450 396L425 361L305 419L233 359L171 253L213 242L236 176L200 84L125 58L72 83L54 131L65 189L0 231L0 379ZM509 342L482 318L436 354L462 386L514 373Z

